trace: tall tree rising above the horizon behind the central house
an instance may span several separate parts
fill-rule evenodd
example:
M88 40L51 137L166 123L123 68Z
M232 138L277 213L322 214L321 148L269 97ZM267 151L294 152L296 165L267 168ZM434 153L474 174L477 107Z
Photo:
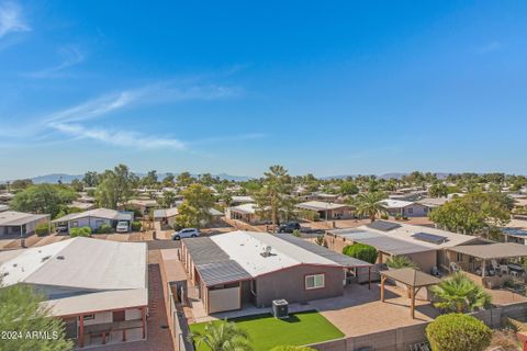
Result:
M280 210L290 206L289 194L292 190L291 177L282 166L271 166L264 173L264 186L256 195L256 204L261 217L270 217L273 230L280 219Z

